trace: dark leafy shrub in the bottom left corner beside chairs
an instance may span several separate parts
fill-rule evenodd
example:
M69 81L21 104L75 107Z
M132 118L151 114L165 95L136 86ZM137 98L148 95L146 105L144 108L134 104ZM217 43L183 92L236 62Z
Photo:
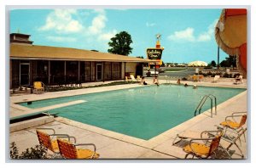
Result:
M9 154L11 159L25 159L25 160L47 159L46 157L47 149L40 145L36 145L35 147L32 147L32 148L26 148L26 151L22 152L20 155L15 142L10 144L9 149L10 149Z

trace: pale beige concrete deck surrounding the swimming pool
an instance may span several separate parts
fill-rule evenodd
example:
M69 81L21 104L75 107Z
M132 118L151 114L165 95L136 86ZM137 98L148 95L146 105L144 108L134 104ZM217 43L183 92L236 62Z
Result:
M147 79L149 84L151 79ZM167 81L169 83L176 83L176 81ZM219 81L212 83L211 81L192 82L186 81L189 85L196 84L197 86L208 87L239 87L246 88L247 82L240 85L234 85L230 81ZM166 83L166 80L160 80L160 83ZM183 81L184 83L184 81ZM91 92L104 92L110 90L142 87L138 84L120 85L113 87L95 87L63 92L45 92L44 94L29 94L22 96L10 97L9 118L19 115L27 115L27 109L15 103L24 101L35 101L45 98L57 98L65 96L73 96L78 94L85 94ZM230 98L223 104L218 105L218 115L213 115L207 111L201 115L197 115L193 119L183 122L179 126L163 132L159 136L153 137L148 141L136 137L125 136L117 132L110 132L96 126L90 126L79 123L73 120L56 117L54 121L43 124L41 126L33 126L22 129L16 132L9 133L9 143L17 144L20 151L30 148L38 144L38 137L35 129L37 127L54 128L57 133L66 133L77 138L77 143L95 143L97 153L100 154L101 159L183 159L185 153L183 148L177 145L172 145L177 133L184 131L202 132L206 130L216 130L216 125L225 119L225 116L231 115L235 111L247 111L247 91L241 92L234 98ZM248 125L248 124L247 124ZM221 142L222 143L222 142ZM223 142L224 143L224 142ZM247 143L241 137L241 150L247 158ZM239 151L236 146L230 148L232 151L232 159L241 159Z

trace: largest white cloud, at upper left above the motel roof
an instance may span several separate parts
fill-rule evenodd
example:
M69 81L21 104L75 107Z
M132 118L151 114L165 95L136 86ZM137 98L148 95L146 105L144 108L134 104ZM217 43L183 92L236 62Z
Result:
M39 31L56 31L57 33L76 33L83 29L78 20L73 19L77 11L74 9L55 9L47 18L45 25Z

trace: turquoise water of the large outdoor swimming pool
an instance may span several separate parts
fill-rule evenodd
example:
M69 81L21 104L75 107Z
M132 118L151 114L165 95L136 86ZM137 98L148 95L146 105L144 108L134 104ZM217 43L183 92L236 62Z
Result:
M245 89L223 87L183 87L161 85L99 92L67 98L54 98L20 104L29 108L85 100L83 104L51 109L50 113L98 126L113 132L148 140L194 117L194 111L206 94L213 94L218 104ZM207 100L209 101L209 100ZM201 110L210 109L210 102Z

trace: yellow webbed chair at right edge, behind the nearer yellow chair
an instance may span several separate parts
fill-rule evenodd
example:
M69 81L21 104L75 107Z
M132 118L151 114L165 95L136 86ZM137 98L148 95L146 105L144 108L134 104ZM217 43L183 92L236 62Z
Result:
M237 121L240 119L239 121ZM247 112L234 112L232 115L226 116L225 120L220 123L220 126L224 128L224 134L228 136L229 133L236 133L244 131L243 126L247 121ZM245 134L244 139L246 140Z

